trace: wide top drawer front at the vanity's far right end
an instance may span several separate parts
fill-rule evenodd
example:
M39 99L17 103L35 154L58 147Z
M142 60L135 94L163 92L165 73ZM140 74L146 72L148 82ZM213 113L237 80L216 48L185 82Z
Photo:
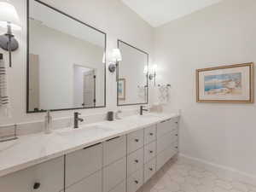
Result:
M157 138L163 137L166 133L177 129L177 118L168 119L157 125Z

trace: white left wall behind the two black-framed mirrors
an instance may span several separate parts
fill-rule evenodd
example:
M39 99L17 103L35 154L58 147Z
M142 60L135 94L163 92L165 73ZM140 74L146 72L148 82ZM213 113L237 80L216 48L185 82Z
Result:
M99 28L107 35L108 52L117 47L117 39L122 39L140 49L152 54L153 29L131 9L119 0L44 0L57 9L61 9L79 20ZM15 32L20 43L20 49L13 53L13 66L9 68L9 92L11 97L12 118L0 117L0 125L42 120L42 113L26 113L26 0L9 0L18 11L22 32ZM0 50L1 52L2 49ZM4 52L4 58L8 55ZM116 108L115 74L107 71L107 107L98 109L84 109L82 113L98 113ZM138 107L135 107L138 108ZM73 111L54 113L54 117L72 115Z

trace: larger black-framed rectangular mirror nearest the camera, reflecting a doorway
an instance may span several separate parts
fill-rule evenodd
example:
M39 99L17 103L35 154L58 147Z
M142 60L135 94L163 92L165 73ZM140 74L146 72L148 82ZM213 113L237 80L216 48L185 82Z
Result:
M27 5L27 113L105 107L106 33L41 1Z

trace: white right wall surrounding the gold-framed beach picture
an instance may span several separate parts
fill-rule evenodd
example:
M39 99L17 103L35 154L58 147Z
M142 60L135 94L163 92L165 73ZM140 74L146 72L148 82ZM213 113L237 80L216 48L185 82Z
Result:
M256 62L256 1L224 0L155 30L158 83L182 109L181 153L256 176L256 104L195 102L195 69Z

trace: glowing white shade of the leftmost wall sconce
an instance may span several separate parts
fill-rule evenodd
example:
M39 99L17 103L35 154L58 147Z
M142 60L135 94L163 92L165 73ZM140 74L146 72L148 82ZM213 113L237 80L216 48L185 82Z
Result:
M21 30L20 19L15 7L6 2L0 2L0 26L8 28L11 26L13 30Z

